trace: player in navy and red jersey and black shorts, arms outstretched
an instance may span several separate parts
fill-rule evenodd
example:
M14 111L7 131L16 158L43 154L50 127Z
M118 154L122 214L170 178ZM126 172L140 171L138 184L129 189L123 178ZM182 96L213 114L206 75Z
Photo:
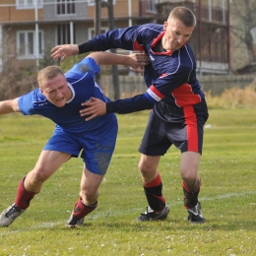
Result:
M176 7L163 26L146 24L112 30L79 45L57 45L52 49L52 57L62 57L62 61L71 55L110 48L142 50L150 56L151 65L144 72L148 87L144 95L111 102L93 98L85 103L88 108L81 111L82 116L91 114L89 121L104 113L153 108L139 148L139 169L149 207L138 221L164 220L168 215L158 166L161 156L174 145L181 152L180 174L188 221L205 222L198 201L201 187L198 167L208 108L196 77L195 57L187 43L195 26L193 12Z

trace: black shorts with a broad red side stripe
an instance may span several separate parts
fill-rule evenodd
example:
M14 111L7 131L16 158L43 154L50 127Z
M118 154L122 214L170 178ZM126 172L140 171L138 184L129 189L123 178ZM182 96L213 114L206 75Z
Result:
M163 156L173 144L181 153L202 154L203 128L207 119L205 99L184 107L159 102L151 111L139 152L146 156Z

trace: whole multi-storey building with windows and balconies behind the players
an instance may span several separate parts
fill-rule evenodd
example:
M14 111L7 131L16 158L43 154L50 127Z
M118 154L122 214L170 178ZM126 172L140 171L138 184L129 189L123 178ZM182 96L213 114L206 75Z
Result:
M198 21L189 43L199 75L229 74L236 69L229 54L234 45L230 43L229 25L232 1L236 0L112 0L114 26L162 24L173 7L186 6ZM100 32L106 32L106 7L100 9L100 18ZM11 62L21 68L37 67L54 45L88 40L95 35L95 28L95 0L1 0L0 67Z

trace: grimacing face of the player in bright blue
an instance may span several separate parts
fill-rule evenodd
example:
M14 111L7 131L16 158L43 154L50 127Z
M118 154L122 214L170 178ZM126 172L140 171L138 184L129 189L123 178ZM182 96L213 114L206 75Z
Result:
M45 80L41 85L41 93L58 107L62 107L72 97L66 78L58 74L55 78Z

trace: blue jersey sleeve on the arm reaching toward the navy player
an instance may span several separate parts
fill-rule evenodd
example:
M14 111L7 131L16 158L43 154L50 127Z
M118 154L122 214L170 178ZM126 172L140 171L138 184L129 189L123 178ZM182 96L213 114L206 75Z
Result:
M86 73L89 73L95 79L95 76L99 71L100 68L96 64L96 61L91 57L86 57L65 73L65 77L69 81L78 81L83 78Z

